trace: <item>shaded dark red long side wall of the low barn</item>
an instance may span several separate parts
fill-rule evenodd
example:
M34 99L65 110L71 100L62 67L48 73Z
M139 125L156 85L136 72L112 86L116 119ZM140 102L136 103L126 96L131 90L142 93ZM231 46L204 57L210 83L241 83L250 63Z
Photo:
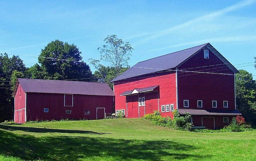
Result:
M49 108L49 112L44 112ZM106 113L113 112L113 96L73 95L73 107L64 106L64 94L27 93L28 120L60 120L69 119L96 119L97 108L105 108ZM71 114L66 114L71 110ZM89 110L90 114L84 114ZM100 114L102 110L98 111Z

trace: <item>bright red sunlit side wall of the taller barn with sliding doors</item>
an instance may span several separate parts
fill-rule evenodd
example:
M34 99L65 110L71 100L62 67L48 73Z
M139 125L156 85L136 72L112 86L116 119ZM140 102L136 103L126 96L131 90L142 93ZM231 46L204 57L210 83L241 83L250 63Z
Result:
M127 117L139 117L138 94L135 94L133 96L120 96L120 94L124 91L133 90L134 88L146 88L156 85L159 85L158 92L145 93L144 113L148 114L152 113L151 110L158 110L158 97L159 109L161 109L161 105L166 104L174 104L174 108L176 109L176 74L175 72L161 72L156 74L147 74L143 76L143 78L132 78L128 80L116 81L114 83L114 92L116 94L116 110L126 109L127 97ZM144 96L144 93L142 96ZM142 96L140 95L140 97ZM140 107L140 117L142 115L144 116L143 108L144 107ZM134 114L132 113L132 110L135 111ZM172 116L172 112L162 113L162 116L167 115Z

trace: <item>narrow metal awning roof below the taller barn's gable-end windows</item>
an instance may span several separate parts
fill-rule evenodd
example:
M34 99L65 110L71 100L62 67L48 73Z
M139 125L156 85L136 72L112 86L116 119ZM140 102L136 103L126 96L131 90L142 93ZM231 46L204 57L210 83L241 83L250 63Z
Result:
M180 114L189 115L242 115L237 110L222 110L222 109L177 109Z

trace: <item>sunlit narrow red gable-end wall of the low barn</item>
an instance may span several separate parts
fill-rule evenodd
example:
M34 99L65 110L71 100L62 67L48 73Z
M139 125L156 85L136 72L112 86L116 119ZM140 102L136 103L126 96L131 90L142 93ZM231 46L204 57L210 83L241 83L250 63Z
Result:
M14 97L14 122L25 123L25 106L26 106L26 93L20 86Z

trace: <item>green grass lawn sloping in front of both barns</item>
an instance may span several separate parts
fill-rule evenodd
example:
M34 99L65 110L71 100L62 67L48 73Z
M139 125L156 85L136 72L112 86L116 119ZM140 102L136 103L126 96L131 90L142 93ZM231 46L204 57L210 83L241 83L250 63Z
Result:
M256 160L256 131L186 132L144 118L0 124L0 160Z

